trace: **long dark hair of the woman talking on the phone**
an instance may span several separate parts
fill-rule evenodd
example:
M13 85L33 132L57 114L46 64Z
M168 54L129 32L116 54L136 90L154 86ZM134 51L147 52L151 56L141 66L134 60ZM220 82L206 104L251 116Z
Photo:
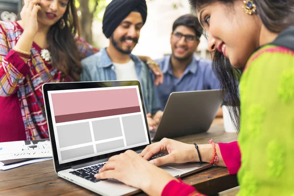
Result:
M62 19L65 21L64 28L59 27ZM52 66L61 71L64 78L71 77L71 79L79 81L82 66L74 37L80 34L80 30L74 0L69 0L60 21L52 25L47 34Z

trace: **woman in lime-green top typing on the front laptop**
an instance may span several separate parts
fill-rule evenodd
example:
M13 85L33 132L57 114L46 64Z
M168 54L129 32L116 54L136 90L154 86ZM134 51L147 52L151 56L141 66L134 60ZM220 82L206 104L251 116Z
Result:
M215 53L215 71L223 87L229 88L226 95L231 100L239 98L236 76L240 77L238 70L243 71L238 144L210 141L196 146L163 139L148 146L141 157L133 151L111 157L96 177L115 178L148 195L198 196L201 194L194 187L154 165L202 161L226 166L231 174L238 172L240 196L290 196L294 193L292 0L190 2L209 34L209 50ZM238 101L235 105L238 106ZM168 155L150 161L153 164L146 161L162 152Z

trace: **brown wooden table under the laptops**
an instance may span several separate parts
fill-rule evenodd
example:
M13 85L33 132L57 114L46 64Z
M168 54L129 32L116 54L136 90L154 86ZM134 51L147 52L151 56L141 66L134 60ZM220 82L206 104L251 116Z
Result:
M210 138L214 142L236 141L236 133L226 133L223 120L214 120L206 133L176 138L181 142L206 144ZM236 175L229 175L226 168L213 167L183 178L203 194L213 195L238 186ZM95 196L97 194L77 186L57 176L52 160L26 165L8 171L0 171L0 196ZM144 193L137 194L145 195Z

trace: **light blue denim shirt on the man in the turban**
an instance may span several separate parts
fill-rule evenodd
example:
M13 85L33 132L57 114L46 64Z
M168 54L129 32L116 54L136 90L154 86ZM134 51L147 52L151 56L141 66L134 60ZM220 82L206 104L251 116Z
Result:
M160 110L160 102L154 91L152 73L148 67L137 56L130 54L135 63L135 69L144 99L147 113L155 114ZM106 49L82 60L83 72L80 75L81 81L109 81L117 80L115 66L109 58Z

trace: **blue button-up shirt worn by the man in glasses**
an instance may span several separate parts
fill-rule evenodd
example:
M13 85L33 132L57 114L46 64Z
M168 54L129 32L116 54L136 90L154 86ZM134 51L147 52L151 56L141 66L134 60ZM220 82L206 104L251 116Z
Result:
M212 71L212 61L194 55L181 78L172 73L171 55L155 60L164 75L163 84L156 87L163 110L172 92L220 89L220 82Z

